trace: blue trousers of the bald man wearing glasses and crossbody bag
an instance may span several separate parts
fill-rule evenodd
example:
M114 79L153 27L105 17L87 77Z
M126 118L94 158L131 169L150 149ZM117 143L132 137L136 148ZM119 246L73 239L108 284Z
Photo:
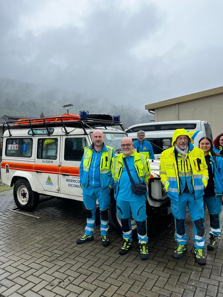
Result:
M139 196L137 201L124 201L117 198L116 208L122 223L123 238L132 241L131 217L133 215L136 221L139 243L147 242L145 196Z

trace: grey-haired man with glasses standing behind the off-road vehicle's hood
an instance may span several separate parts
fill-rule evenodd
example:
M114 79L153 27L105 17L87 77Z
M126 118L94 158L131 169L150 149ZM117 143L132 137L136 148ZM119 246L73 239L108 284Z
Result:
M134 141L134 148L138 153L143 154L147 159L155 159L153 153L153 147L148 140L145 140L145 131L137 132L138 140Z

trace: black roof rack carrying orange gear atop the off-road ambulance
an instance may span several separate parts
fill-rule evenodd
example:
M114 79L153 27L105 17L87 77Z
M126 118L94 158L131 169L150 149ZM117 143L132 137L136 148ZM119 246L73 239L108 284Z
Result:
M108 127L120 127L121 130L125 131L124 125L120 121L81 118L78 115L76 115L76 117L75 115L73 115L71 119L70 116L63 115L36 119L19 119L14 121L6 121L3 124L3 133L7 129L9 131L9 136L12 136L11 130L13 129L30 128L32 130L32 134L36 135L34 134L33 129L45 128L48 132L48 135L50 135L50 129L53 127L63 127L65 130L65 134L69 134L66 127L82 128L84 130L84 134L87 134L86 129L98 127L104 127L105 129L107 129Z

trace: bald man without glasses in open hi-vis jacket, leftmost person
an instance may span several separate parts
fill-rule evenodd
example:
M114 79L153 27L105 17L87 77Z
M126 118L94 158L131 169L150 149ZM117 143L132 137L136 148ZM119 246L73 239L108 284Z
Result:
M92 135L92 145L84 149L81 160L80 185L83 190L83 201L87 208L87 226L85 233L76 240L77 244L83 244L94 240L95 208L98 199L101 217L101 240L103 246L110 244L108 239L110 204L111 163L115 156L114 149L104 144L104 135L100 130L95 130Z

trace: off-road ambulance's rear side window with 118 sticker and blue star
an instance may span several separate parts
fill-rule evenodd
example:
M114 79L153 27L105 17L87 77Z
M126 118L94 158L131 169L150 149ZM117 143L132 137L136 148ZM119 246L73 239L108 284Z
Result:
M32 138L8 138L6 140L5 155L8 157L32 156Z

